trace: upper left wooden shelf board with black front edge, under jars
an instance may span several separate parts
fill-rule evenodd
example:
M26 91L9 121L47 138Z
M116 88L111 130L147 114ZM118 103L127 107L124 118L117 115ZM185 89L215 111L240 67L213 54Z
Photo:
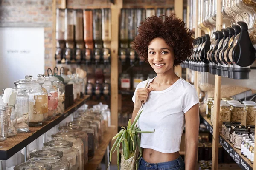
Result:
M39 136L46 133L52 127L58 125L71 113L75 112L79 107L84 105L86 99L89 96L77 100L73 106L66 109L64 114L61 116L55 116L52 120L47 120L41 126L29 127L28 132L18 133L16 136L9 137L5 141L0 142L0 160L7 160L12 157L15 153L26 147L28 144L33 142Z

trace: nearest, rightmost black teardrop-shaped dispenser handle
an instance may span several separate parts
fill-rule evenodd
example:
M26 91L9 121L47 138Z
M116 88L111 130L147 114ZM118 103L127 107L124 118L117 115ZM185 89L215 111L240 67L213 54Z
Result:
M233 47L232 59L236 65L247 67L255 61L256 51L250 40L247 24L243 21L239 21L238 24L241 26L241 34L236 46Z

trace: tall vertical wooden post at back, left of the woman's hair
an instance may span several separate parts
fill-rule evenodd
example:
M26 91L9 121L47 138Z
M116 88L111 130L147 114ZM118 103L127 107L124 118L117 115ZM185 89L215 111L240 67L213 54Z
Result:
M118 33L119 33L119 14L122 8L122 0L116 0L111 4L111 125L118 127ZM115 130L117 133L118 128ZM113 141L111 142L111 147ZM118 150L119 151L119 150ZM116 154L112 155L111 164L117 163Z

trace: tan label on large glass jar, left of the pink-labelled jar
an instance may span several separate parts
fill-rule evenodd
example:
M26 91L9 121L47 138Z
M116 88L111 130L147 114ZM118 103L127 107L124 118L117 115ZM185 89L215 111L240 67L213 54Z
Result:
M33 113L44 114L48 112L48 96L36 95L33 101Z

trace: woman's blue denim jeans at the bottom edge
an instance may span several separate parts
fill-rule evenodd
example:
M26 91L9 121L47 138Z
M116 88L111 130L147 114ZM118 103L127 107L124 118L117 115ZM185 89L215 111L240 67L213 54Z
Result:
M181 157L169 162L150 164L142 157L139 160L139 170L185 170L185 163Z

